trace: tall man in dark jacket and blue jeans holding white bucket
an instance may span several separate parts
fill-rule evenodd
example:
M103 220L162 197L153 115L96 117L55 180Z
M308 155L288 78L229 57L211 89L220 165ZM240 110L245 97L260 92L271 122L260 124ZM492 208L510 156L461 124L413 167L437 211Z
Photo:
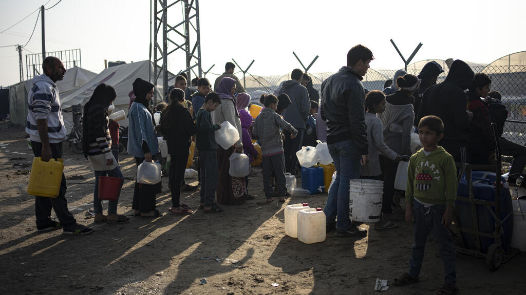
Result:
M349 219L349 180L360 178L360 163L369 162L365 125L365 91L361 80L374 59L369 48L357 45L347 53L347 66L321 84L321 118L327 121L327 145L336 171L325 205L327 229L338 237L366 236ZM335 220L337 219L337 220Z

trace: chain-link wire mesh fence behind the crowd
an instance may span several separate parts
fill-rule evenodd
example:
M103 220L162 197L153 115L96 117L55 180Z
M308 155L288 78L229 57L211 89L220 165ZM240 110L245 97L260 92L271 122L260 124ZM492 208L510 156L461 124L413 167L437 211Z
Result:
M438 77L437 83L446 79L449 69L444 65L444 72ZM504 138L518 143L526 143L526 65L522 66L473 66L473 72L487 73L491 77L491 90L502 94L502 103L509 112L508 121L504 124ZM420 68L408 68L407 72L418 75ZM374 70L369 69L363 77L363 87L367 90L383 90L386 80L392 80L396 70ZM273 93L281 82L290 79L290 72L286 75L258 76L246 73L245 79L241 72L236 73L245 85L247 93L250 94L252 103L259 104L261 94ZM308 73L312 79L313 87L320 91L321 82L327 79L331 72ZM209 74L208 79L213 83L218 75Z

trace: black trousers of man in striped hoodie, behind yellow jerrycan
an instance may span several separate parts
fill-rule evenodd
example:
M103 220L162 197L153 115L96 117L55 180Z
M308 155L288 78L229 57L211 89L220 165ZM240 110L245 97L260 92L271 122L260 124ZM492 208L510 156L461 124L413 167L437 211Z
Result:
M53 159L62 158L62 142L50 143L49 146L51 148ZM42 156L41 142L31 141L31 147L35 157ZM77 220L75 220L75 217L73 217L67 208L66 189L66 177L64 176L64 173L62 173L62 181L60 182L60 191L58 192L58 197L48 198L35 196L35 216L37 228L44 228L49 222L51 218L51 208L55 210L58 221L63 227L77 223Z

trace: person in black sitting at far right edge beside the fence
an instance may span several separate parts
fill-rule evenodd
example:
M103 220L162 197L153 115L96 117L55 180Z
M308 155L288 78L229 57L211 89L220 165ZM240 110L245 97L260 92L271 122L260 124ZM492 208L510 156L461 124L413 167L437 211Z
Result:
M510 176L508 183L511 186L516 185L515 182L520 175L523 175L524 165L526 165L526 147L514 142L511 142L502 137L504 133L504 122L508 119L508 110L501 102L502 96L499 91L490 91L488 97L484 99L487 104L490 119L497 124L497 136L499 140L500 152L503 155L513 156L511 163ZM523 186L525 183L522 182Z

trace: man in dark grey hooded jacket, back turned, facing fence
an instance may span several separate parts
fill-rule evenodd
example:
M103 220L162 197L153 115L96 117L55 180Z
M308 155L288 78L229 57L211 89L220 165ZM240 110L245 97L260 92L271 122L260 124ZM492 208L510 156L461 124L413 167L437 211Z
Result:
M296 175L298 168L296 152L301 149L307 119L310 114L309 91L305 86L301 85L302 77L303 72L300 69L292 70L291 80L285 81L279 90L279 94L286 93L292 102L283 112L283 118L298 130L298 136L295 139L291 139L290 133L284 131L285 171L292 175Z

